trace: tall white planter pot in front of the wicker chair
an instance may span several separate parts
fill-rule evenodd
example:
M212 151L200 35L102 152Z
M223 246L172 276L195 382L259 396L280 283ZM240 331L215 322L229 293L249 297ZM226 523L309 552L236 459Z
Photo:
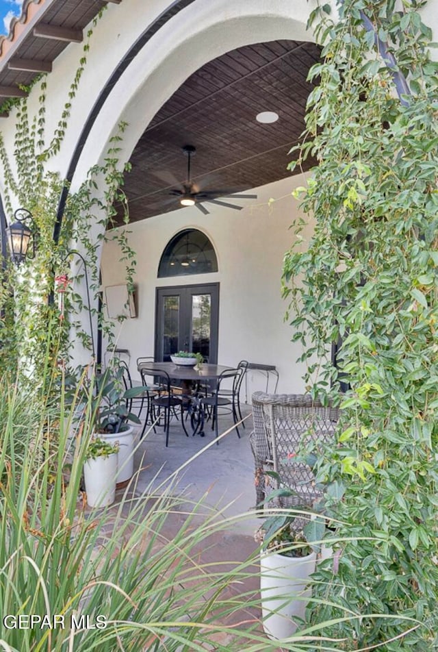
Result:
M260 594L263 629L269 638L292 636L304 618L311 587L309 576L315 571L316 554L286 557L262 553L260 557Z

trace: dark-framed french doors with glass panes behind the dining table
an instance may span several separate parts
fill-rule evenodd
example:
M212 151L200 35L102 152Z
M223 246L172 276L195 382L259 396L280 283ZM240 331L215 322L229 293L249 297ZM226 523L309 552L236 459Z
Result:
M218 283L157 288L155 315L155 360L193 351L218 362Z

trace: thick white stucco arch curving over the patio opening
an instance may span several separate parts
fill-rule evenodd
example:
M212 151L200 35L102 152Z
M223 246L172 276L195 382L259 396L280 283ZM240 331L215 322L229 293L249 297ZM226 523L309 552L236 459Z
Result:
M144 129L185 79L219 55L250 43L287 39L312 41L306 29L309 3L297 0L222 0L211 11L194 2L146 43L112 88L90 129L72 188L103 160L120 121L127 123L120 164L129 160ZM96 160L97 159L97 160Z

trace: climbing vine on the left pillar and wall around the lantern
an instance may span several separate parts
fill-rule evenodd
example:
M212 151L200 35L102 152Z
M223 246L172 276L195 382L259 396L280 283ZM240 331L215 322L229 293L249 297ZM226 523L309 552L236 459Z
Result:
M36 387L40 379L47 377L44 373L47 358L55 367L68 364L73 340L79 339L90 351L91 358L95 355L91 323L99 321L107 340L111 341L111 324L105 321L105 311L98 310L99 254L105 238L120 242L127 285L133 284L136 262L125 229L108 231L116 214L115 204L121 207L118 214L123 214L125 223L129 221L123 193L123 174L128 166L121 168L118 160L124 123L113 136L103 164L90 169L77 191L68 192L60 236L57 242L53 238L60 197L68 184L51 168L68 130L91 36L92 29L53 132L47 133L47 82L45 77L40 77L32 88L33 93L38 93L34 114L29 111L27 98L14 105L12 157L0 134L5 212L10 221L17 208L31 213L36 244L33 259L27 259L19 268L9 263L3 270L0 371L18 369L22 380L29 378ZM56 323L57 327L49 329L49 323Z

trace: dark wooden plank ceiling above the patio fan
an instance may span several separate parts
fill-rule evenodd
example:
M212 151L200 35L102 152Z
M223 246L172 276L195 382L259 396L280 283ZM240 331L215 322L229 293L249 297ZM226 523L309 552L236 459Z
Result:
M313 43L271 41L233 50L190 75L131 155L125 179L131 221L181 208L170 190L181 190L187 178L184 145L196 147L192 180L201 192L219 190L216 197L225 189L248 190L289 176L288 151L304 129L312 88L307 73L319 58ZM257 122L263 111L276 112L279 120ZM208 203L203 206L208 210ZM198 215L196 206L185 210Z

